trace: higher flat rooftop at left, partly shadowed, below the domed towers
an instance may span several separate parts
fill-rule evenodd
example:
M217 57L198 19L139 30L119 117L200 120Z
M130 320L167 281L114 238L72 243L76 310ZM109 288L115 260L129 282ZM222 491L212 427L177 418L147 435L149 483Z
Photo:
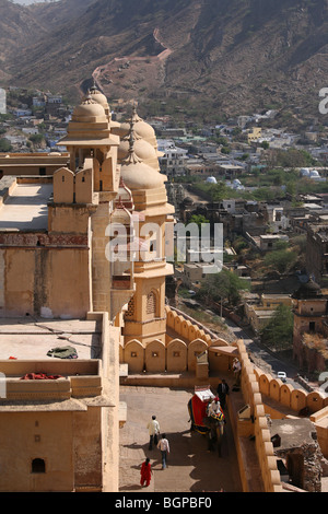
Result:
M52 184L17 184L0 208L0 230L47 230Z

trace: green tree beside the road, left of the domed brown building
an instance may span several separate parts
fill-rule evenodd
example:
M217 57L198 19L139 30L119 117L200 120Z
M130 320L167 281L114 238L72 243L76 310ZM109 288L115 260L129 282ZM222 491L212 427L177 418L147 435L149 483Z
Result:
M291 307L279 305L268 324L262 328L262 342L274 350L286 350L293 343L294 316Z

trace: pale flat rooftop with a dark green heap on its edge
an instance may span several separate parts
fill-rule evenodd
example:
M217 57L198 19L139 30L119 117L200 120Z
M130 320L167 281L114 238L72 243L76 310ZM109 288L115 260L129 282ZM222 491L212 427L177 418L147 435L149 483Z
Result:
M48 357L57 347L73 347L78 359L99 359L102 325L96 320L0 318L0 360L61 360Z

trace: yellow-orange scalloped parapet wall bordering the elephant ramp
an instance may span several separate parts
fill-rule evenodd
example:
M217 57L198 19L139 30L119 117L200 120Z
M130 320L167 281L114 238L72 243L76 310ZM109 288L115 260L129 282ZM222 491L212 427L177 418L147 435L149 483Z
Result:
M283 419L297 416L303 409L312 413L318 443L324 456L328 449L328 399L319 393L294 389L256 367L249 360L244 341L229 346L223 339L213 339L197 322L166 306L167 338L142 344L129 341L120 348L120 361L128 363L131 384L161 386L194 386L204 383L218 385L218 376L232 376L233 360L242 364L241 394L230 395L227 406L233 425L239 474L245 492L281 492L282 483L271 442L268 416ZM175 338L173 338L176 336ZM209 373L198 372L197 354L208 354ZM133 354L133 357L131 357ZM156 359L159 364L156 366ZM165 372L165 373L164 373ZM134 377L132 377L132 375ZM239 417L239 410L249 406L249 417ZM254 448L256 452L254 452ZM255 470L255 471L254 471Z

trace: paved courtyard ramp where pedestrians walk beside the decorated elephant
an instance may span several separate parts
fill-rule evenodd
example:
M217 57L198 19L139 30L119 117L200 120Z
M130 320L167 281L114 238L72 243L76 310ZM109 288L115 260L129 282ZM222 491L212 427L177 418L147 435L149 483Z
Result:
M227 421L222 457L208 452L204 436L190 434L187 404L192 392L121 386L120 400L128 419L120 429L120 492L242 492L232 429ZM168 467L162 470L161 453L149 451L147 424L157 417L171 445ZM153 476L149 488L140 487L140 466L150 457Z

